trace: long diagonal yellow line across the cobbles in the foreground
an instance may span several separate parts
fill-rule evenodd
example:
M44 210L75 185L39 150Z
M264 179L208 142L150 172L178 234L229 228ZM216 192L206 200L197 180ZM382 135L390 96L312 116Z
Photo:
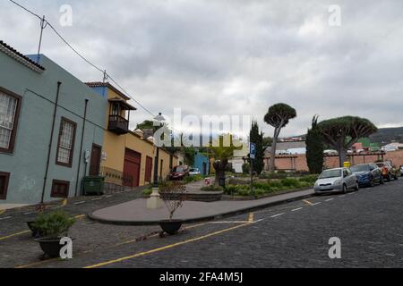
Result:
M98 265L86 266L86 267L84 267L84 268L87 268L87 269L90 269L90 268L98 268L98 267L102 267L102 266L105 266L105 265L112 265L112 264L116 264L116 263L119 263L119 262L123 262L123 261L125 261L125 260L133 259L133 258L136 258L136 257L147 256L147 255L150 255L150 254L153 254L153 253L162 251L162 250L167 250L167 249L169 249L169 248L176 248L176 247L178 247L178 246L181 246L181 245L184 245L184 244L187 244L187 243L191 243L191 242L194 242L194 241L199 241L199 240L208 239L208 238L210 238L210 237L212 237L212 236L216 236L216 235L219 235L219 234L221 234L221 233L225 233L225 232L227 232L227 231L234 231L234 230L239 229L239 228L241 228L241 227L244 227L244 226L246 226L246 225L251 225L251 223L245 223L245 224L241 224L241 225L236 225L236 226L234 226L234 227L231 227L231 228L228 228L228 229L225 229L225 230L222 230L222 231L212 232L212 233L209 233L209 234L207 234L207 235L203 235L203 236L201 236L201 237L194 238L194 239L192 239L192 240L184 240L184 241L181 241L181 242L177 242L177 243L174 243L174 244L167 245L167 246L162 247L162 248L151 249L151 250L149 250L149 251L137 253L137 254L134 254L134 255L129 256L129 257L122 257L122 258L118 258L118 259L115 259L115 260L110 260L110 261L107 261L107 262L102 262L102 263L99 263Z

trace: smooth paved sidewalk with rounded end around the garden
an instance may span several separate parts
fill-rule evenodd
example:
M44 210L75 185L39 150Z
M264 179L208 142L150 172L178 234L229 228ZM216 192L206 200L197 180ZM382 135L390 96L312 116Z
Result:
M267 206L276 206L294 200L310 198L313 189L287 193L270 198L248 201L218 201L212 203L185 201L184 206L177 210L174 219L184 220L184 223L197 223L214 218L243 214ZM147 208L147 200L135 199L124 204L110 206L89 214L90 219L99 223L121 225L152 225L161 220L167 220L168 212L165 206L151 210Z

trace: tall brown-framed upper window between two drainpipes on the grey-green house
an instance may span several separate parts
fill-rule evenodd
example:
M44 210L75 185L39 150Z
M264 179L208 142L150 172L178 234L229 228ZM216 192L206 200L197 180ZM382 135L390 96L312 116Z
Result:
M56 164L72 167L76 127L77 124L75 122L62 118L59 142L57 145Z

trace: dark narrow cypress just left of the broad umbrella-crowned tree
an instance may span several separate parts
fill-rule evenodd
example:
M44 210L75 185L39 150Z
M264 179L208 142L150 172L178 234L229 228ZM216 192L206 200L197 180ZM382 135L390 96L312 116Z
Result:
M318 129L318 116L313 116L312 127L306 135L306 162L309 172L321 173L323 169L323 139Z

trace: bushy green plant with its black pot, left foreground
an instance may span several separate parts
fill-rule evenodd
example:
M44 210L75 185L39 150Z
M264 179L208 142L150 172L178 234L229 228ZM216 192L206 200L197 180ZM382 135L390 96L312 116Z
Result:
M36 229L42 237L36 239L40 248L47 257L59 257L60 240L68 236L69 229L75 223L75 219L71 218L62 210L57 210L47 214L39 214L32 227Z

